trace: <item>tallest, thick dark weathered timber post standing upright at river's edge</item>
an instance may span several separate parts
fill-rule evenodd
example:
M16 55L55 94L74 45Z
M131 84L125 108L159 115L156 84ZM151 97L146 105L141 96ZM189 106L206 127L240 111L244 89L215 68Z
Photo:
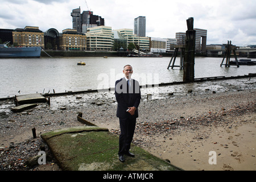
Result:
M195 78L196 31L193 30L193 24L193 18L187 19L183 81L194 81Z

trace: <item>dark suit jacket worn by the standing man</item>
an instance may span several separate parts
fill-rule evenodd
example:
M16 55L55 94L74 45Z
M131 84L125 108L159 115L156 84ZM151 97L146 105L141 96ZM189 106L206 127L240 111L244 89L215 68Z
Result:
M125 77L115 82L115 98L117 99L117 117L128 118L131 114L126 110L128 107L136 107L135 115L133 117L138 118L138 107L141 102L141 89L139 88L139 82L131 79L131 87L129 93L127 93L127 82Z

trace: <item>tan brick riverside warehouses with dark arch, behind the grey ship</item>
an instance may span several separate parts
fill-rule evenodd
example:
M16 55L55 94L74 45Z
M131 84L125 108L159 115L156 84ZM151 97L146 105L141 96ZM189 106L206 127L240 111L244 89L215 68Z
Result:
M26 26L25 28L1 29L0 39L20 47L42 47L53 50L86 50L86 36L76 30L65 29L59 33L55 28L46 32L39 27Z

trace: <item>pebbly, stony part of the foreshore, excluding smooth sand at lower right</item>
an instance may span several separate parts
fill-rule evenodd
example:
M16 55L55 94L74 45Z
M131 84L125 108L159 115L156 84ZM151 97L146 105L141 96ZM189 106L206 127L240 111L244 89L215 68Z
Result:
M188 90L193 90L188 93ZM142 90L143 101L135 130L134 144L147 150L158 137L179 135L185 131L199 130L201 126L232 126L232 118L255 114L255 79L187 84ZM2 101L0 108L0 170L60 170L40 134L49 131L82 126L77 113L97 126L107 127L119 134L119 121L115 117L117 104L114 93L92 93L80 96L52 97L51 105L39 104L22 113L12 113L12 100ZM32 137L32 128L37 137ZM158 136L158 137L154 137ZM207 138L207 133L198 136ZM45 148L47 165L28 163Z

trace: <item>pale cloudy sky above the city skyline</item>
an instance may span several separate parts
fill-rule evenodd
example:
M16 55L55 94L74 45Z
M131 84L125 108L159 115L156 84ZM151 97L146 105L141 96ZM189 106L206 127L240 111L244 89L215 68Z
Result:
M86 0L94 15L102 16L113 30L132 28L134 18L146 16L146 36L175 38L187 30L186 20L194 18L194 28L208 30L207 44L228 40L237 46L256 44L255 0ZM85 0L0 0L0 28L38 26L40 30L72 28L71 11Z

